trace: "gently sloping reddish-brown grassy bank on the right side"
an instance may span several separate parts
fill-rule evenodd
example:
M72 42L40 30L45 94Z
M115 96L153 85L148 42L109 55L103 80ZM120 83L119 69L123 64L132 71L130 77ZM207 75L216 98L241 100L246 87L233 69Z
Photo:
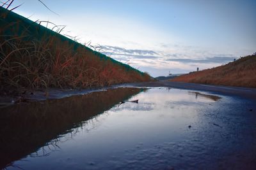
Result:
M184 74L170 81L255 88L256 55L242 57L225 66Z

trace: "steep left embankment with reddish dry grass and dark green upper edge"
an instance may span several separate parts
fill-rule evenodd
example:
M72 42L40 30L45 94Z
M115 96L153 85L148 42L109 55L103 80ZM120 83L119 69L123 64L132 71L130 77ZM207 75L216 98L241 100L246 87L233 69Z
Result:
M0 92L149 81L147 73L0 7Z

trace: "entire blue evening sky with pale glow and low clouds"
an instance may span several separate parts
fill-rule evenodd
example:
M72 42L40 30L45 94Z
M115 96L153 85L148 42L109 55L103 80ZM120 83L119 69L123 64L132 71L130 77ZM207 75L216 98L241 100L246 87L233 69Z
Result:
M41 1L54 12L37 0L15 0L11 7L22 4L13 11L33 21L66 25L61 34L154 77L256 52L255 0Z

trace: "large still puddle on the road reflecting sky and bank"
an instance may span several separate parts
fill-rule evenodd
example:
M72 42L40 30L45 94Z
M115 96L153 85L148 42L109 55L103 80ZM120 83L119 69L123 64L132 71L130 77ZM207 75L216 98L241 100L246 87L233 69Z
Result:
M251 169L255 115L242 117L239 104L206 92L121 88L5 108L1 166Z

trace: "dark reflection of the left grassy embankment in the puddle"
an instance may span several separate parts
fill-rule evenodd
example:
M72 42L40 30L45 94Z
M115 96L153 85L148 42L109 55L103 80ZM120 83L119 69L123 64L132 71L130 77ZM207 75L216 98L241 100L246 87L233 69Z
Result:
M0 169L32 152L35 153L31 157L48 156L49 151L59 149L58 143L72 138L77 127L89 123L93 128L93 120L97 119L99 113L141 90L110 89L1 109ZM95 117L92 121L84 123L92 117ZM41 153L36 152L42 146Z

